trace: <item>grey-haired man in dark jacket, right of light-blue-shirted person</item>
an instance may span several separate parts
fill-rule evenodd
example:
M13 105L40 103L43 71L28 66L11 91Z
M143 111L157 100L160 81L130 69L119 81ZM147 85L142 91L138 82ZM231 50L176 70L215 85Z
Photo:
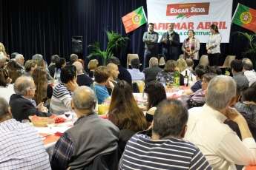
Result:
M161 72L162 69L158 67L158 59L155 57L150 58L149 67L144 69L145 74L145 84L149 81L155 81L158 72Z

